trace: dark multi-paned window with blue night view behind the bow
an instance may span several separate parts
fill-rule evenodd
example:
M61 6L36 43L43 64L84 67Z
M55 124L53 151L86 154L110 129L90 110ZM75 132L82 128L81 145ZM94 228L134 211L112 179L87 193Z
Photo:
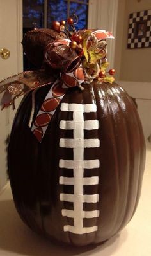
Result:
M67 20L70 15L79 17L76 29L87 28L88 0L23 0L23 34L38 28L51 28L53 20ZM24 55L24 71L34 69Z

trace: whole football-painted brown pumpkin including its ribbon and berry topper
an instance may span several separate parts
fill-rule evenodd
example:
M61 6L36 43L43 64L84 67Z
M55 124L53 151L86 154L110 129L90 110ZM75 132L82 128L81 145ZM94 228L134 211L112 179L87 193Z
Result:
M113 82L114 69L106 71L104 39L111 34L86 30L70 32L68 39L65 26L59 28L61 37L40 53L47 68L1 84L3 107L26 93L10 136L9 176L15 206L29 228L84 246L106 241L134 215L145 142L134 102Z

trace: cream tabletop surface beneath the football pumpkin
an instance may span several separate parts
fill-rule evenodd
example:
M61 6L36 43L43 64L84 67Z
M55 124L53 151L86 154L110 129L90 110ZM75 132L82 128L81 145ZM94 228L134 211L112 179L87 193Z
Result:
M151 255L151 144L138 208L131 222L99 246L74 248L52 244L22 223L13 204L10 185L0 194L0 256L150 256Z

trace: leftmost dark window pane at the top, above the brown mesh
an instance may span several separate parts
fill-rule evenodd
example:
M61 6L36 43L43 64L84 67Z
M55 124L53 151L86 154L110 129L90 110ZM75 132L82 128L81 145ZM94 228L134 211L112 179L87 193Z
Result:
M23 27L33 28L33 23L44 26L44 0L23 1Z

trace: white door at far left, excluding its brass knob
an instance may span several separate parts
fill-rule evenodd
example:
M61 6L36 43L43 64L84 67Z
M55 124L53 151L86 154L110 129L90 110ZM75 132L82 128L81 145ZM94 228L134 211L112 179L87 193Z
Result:
M6 60L0 57L0 80L22 71L22 0L0 0L0 49L10 50ZM17 107L17 102L16 102ZM0 110L0 190L7 182L6 138L10 133L15 111Z

